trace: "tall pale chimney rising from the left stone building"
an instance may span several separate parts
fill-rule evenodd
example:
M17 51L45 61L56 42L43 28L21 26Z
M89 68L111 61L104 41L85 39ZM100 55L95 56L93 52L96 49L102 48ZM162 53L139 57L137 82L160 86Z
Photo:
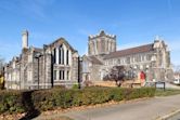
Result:
M28 49L28 31L24 30L22 32L22 49Z

